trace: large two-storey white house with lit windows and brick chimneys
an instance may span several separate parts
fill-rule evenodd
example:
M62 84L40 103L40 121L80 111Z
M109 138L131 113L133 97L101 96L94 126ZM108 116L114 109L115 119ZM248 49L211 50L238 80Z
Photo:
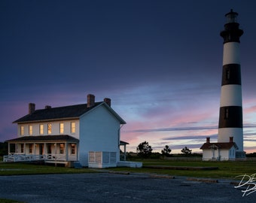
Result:
M72 166L114 167L120 160L120 127L126 122L111 108L111 99L59 108L46 106L15 120L18 138L8 141L8 161L44 160Z

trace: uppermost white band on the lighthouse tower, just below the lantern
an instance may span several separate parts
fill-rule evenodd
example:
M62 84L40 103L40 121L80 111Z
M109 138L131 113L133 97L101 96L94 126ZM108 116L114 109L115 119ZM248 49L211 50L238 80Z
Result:
M223 65L240 64L240 51L238 42L227 42L224 44Z

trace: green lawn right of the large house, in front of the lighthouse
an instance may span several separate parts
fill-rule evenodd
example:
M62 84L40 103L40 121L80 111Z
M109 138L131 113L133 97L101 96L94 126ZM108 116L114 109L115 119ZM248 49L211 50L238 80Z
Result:
M138 160L139 161L139 160ZM173 170L173 169L154 169L154 168L111 168L113 171L130 171L155 174L169 174L188 177L206 178L228 178L235 179L242 174L256 173L256 162L203 162L203 161L173 161L163 159L141 160L143 166L148 165L169 165L169 166L188 166L188 167L218 167L217 170ZM240 177L238 179L241 179Z

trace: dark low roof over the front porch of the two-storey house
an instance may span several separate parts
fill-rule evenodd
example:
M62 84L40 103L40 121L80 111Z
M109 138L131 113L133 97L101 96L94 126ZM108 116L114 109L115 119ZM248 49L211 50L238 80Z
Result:
M69 141L69 142L79 142L77 138L70 135L38 135L38 136L23 136L20 138L14 138L8 140L7 142L51 142L51 141Z

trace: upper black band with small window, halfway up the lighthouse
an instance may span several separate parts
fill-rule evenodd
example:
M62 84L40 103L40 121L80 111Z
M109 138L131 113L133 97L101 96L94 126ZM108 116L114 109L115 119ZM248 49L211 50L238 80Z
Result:
M223 65L221 86L227 84L241 85L241 68L239 64Z

